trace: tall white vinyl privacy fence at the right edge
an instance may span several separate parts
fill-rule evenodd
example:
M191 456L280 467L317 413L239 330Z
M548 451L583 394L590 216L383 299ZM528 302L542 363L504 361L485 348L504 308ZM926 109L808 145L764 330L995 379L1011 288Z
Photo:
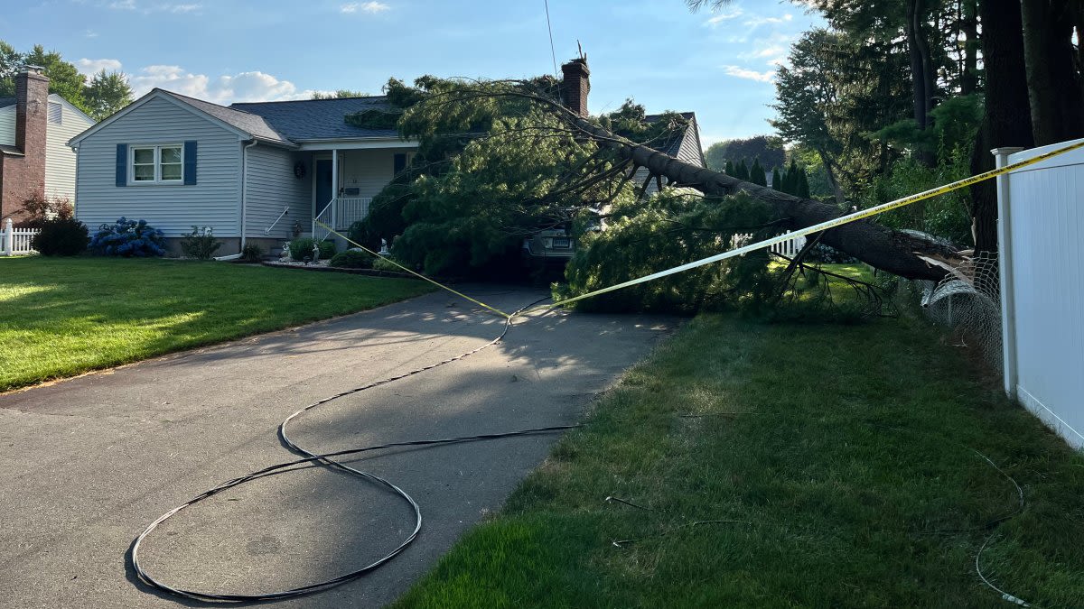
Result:
M1084 150L998 178L997 198L1005 391L1084 448Z

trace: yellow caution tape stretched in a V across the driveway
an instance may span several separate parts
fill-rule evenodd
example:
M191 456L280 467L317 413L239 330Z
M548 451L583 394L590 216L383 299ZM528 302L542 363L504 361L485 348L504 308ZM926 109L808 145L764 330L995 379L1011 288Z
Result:
M1005 167L1002 167L1001 169L993 169L993 170L986 171L984 173L979 173L978 176L972 176L970 178L965 178L964 180L952 182L951 184L945 184L943 186L938 186L935 189L930 189L928 191L925 191L925 192L921 192L921 193L918 193L918 194L914 194L914 195L906 196L906 197L903 197L903 198L898 198L895 200L892 200L892 202L889 202L889 203L885 203L885 204L881 204L881 205L878 205L878 206L875 206L875 207L870 207L868 209L863 209L861 211L855 211L854 213L848 213L847 216L840 216L839 218L834 218L831 220L827 220L825 222L821 222L820 224L813 224L812 226L805 226L804 229L799 229L797 231L791 231L791 232L789 232L787 234L777 235L777 236L774 236L774 237L771 237L771 238L766 238L764 241L757 242L757 243L753 243L753 244L750 244L750 245L746 245L746 246L739 247L737 249L731 249L728 251L723 251L721 254L715 254L714 256L709 256L707 258L701 258L701 259L695 260L693 262L687 262L687 263L682 264L680 267L673 267L673 268L667 269L664 271L659 271L657 273L651 273L649 275L644 275L642 277L637 277L637 278L630 280L630 281L627 281L627 282L623 282L623 283L619 283L617 285L611 285L609 287L604 287L602 289L596 289L594 291L589 291L586 294L581 294L580 296L576 296L576 297L572 297L572 298L566 298L565 300L559 300L559 301L554 302L552 304L544 304L544 306L537 307L537 308L538 309L554 309L554 308L557 308L557 307L564 307L565 304L570 304L570 303L577 302L579 300L584 300L584 299L592 298L592 297L595 297L595 296L599 296L599 295L603 295L603 294L608 294L610 291L616 291L618 289L623 289L625 287L631 287L631 286L638 285L638 284L642 284L642 283L647 283L649 281L655 281L655 280L662 278L662 277L666 277L666 276L669 276L669 275L673 275L673 274L676 274L676 273L688 271L689 269L696 269L697 267L702 267L705 264L711 264L712 262L719 262L720 260L726 260L727 258L734 258L736 256L743 256L745 254L749 254L750 251L756 251L756 250L764 248L764 247L771 247L771 246L773 246L773 245L775 245L777 243L783 243L785 241L790 241L792 238L798 238L800 236L805 236L805 235L810 235L810 234L813 234L813 233L820 233L821 231L827 231L828 229L835 229L836 226L841 226L843 224L848 224L850 222L855 222L857 220L864 220L866 218L870 218L873 216L877 216L877 215L883 213L886 211L891 211L893 209L899 209L901 207L905 207L905 206L911 205L913 203L918 203L919 200L926 200L928 198L932 198L932 197L935 197L935 196L939 196L939 195L943 195L943 194L950 193L952 191L957 191L959 189L965 189L967 186L970 186L971 184L977 184L979 182L982 182L982 181L985 181L985 180L990 180L991 178L996 178L998 176L1004 176L1004 174L1009 173L1011 171L1016 171L1017 169L1021 169L1023 167L1028 167L1028 166L1031 166L1031 165L1035 165L1037 163L1042 163L1042 161L1044 161L1044 160L1046 160L1048 158L1053 158L1055 156L1058 156L1058 155L1061 155L1061 154L1064 154L1064 153L1068 153L1068 152L1071 152L1071 151L1075 151L1077 148L1084 148L1084 140L1082 140L1080 142L1076 142L1074 144L1070 144L1068 146L1063 146L1063 147L1060 147L1060 148L1057 148L1057 150L1054 150L1054 151L1050 151L1050 152L1047 152L1047 153L1043 153L1043 154L1041 154L1041 155L1038 155L1038 156L1036 156L1034 158L1029 158L1027 160L1021 160L1019 163L1014 163L1011 165L1006 165ZM490 307L489 304L486 304L485 302L481 302L480 300L475 300L474 298L470 298L469 296L467 296L467 295L465 295L465 294L463 294L461 291L456 291L456 290L448 287L447 285L444 285L442 283L436 282L436 281L434 281L434 280L431 280L431 278L429 278L429 277L427 277L425 275L423 275L422 273L418 273L416 271L408 269L406 267L403 267L402 264L396 262L395 260L392 260L392 259L390 259L390 258L388 258L386 256L382 256L379 252L376 252L376 251L373 251L372 249L369 249L367 247L361 245L360 243L357 243L357 242L350 239L350 237L348 237L348 236L346 236L346 235L344 235L344 234L341 234L339 232L336 232L331 226L328 226L327 224L325 224L325 223L323 223L323 222L321 222L319 220L317 220L315 223L319 224L319 225L321 225L321 226L323 226L324 229L326 229L330 233L343 237L348 243L351 243L351 244L356 245L357 247L360 247L361 249L367 251L369 254L372 254L373 256L376 256L377 258L383 258L384 260L387 260L388 262L391 262L396 267L399 267L403 271L406 271L408 273L410 273L410 274L412 274L412 275L414 275L416 277L423 278L423 280L425 280L425 281L427 281L427 282L436 285L437 287L440 287L441 289L447 289L448 291L451 291L452 294L454 294L456 296L460 296L462 298L466 298L470 302L474 302L475 304L478 304L478 306L483 307L483 308L486 308L486 309L488 309L490 311L493 311L494 313L498 313L498 314L504 316L505 319L512 319L512 315L509 315L508 313L505 313L504 311L501 311L500 309L496 309L494 307ZM522 311L521 313L526 313L526 312L529 312L529 311L532 311L532 310L533 309L527 309L526 311Z

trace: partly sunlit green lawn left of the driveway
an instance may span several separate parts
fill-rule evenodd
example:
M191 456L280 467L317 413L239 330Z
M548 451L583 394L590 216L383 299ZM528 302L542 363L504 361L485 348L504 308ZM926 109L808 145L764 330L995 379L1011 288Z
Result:
M108 258L0 258L0 390L371 309L414 280Z

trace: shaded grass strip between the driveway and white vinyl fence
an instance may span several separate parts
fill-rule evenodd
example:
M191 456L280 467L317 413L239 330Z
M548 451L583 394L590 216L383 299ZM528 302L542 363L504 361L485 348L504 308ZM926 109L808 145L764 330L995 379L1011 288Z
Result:
M1021 514L994 524L1017 491L979 453ZM1082 496L1084 457L921 320L701 315L395 607L1011 607L988 537L991 581L1074 607Z

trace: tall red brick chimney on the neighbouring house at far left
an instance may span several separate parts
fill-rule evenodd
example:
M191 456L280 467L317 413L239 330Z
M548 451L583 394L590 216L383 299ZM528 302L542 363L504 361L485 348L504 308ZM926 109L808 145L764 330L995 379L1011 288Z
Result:
M41 70L28 65L15 76L15 152L0 158L0 221L31 194L44 196L49 78Z

